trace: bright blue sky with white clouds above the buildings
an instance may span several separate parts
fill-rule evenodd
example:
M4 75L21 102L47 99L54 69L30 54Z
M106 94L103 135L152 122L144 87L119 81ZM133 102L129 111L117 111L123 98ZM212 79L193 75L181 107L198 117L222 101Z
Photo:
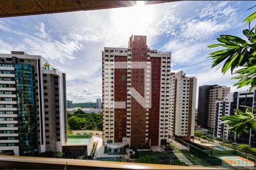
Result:
M102 98L101 52L127 48L131 35L146 35L147 45L172 52L171 71L183 70L206 84L230 86L236 80L211 68L208 54L222 34L240 36L255 1L180 1L106 10L19 16L0 19L0 53L22 50L41 55L67 74L67 100L96 102ZM198 100L198 99L197 99ZM196 102L197 103L197 102Z

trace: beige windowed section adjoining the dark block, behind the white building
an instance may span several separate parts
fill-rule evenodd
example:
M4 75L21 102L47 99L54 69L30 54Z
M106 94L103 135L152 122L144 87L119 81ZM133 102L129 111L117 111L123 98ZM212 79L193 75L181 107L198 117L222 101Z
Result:
M207 126L210 129L214 129L215 125L215 106L216 100L224 99L230 92L230 87L226 86L214 86L212 89L209 90L209 98L208 98L208 120Z

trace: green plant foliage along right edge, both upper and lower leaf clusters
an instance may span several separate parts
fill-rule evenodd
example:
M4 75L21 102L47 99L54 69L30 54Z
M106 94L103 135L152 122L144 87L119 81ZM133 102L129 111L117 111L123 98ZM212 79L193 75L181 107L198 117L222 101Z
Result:
M209 48L224 47L222 50L209 54L209 57L213 59L212 67L224 62L221 69L223 74L229 69L233 74L236 69L234 72L236 76L232 79L237 79L238 82L234 86L238 86L238 88L251 86L251 90L256 87L256 25L250 28L250 23L254 19L256 19L256 12L243 20L243 22L249 24L249 29L243 29L243 35L246 36L247 40L232 35L220 35L220 38L217 38L220 44L208 46ZM249 107L247 107L245 113L237 109L233 116L222 116L221 118L224 120L222 123L228 124L229 131L234 130L240 137L242 131L249 133L250 129L256 130L255 114L252 111L255 112L254 109Z

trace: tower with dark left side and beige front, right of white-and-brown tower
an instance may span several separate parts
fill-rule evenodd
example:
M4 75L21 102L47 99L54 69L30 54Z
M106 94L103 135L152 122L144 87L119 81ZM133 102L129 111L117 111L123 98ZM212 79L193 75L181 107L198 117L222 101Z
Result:
M230 92L230 87L205 85L199 87L197 125L214 129L215 125L215 101L224 99Z

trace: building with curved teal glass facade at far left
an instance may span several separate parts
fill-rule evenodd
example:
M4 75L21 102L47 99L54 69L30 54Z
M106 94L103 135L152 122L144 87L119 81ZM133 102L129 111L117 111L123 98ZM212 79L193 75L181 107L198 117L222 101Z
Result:
M24 52L0 54L1 153L61 151L67 141L65 74L45 63Z

